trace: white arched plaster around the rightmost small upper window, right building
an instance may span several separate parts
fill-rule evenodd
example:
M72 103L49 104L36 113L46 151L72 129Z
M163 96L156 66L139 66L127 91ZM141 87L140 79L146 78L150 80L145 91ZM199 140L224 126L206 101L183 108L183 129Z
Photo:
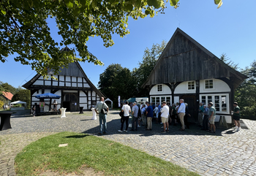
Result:
M214 88L205 89L205 80L200 80L200 93L229 92L230 87L222 80L213 79Z

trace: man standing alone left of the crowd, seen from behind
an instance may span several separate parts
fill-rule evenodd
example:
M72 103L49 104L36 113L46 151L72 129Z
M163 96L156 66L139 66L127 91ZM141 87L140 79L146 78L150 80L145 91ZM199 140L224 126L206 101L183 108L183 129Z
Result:
M99 135L107 134L107 114L102 113L102 109L106 109L108 111L108 105L105 104L104 98L100 97L99 102L95 107L95 112L99 115Z

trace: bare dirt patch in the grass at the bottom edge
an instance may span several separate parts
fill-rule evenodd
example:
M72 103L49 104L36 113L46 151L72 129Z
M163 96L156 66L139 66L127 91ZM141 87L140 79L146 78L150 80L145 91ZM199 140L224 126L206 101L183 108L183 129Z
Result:
M94 169L91 167L86 167L83 169L80 169L80 173L77 172L72 172L72 173L67 173L67 174L60 174L59 172L53 172L53 171L45 171L39 174L40 176L81 176L81 175L86 175L86 176L102 176L104 172L95 172Z

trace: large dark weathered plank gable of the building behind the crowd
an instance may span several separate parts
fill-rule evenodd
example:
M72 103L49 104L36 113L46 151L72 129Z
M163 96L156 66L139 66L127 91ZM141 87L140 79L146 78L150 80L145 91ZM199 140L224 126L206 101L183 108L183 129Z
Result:
M246 79L177 28L142 87L221 77L232 77L235 87Z

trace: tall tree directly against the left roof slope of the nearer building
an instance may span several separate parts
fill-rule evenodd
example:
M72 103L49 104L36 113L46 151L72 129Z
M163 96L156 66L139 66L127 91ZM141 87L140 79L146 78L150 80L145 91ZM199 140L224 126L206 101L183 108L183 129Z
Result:
M154 69L159 56L165 50L166 42L163 40L161 44L153 44L151 49L148 47L144 50L143 59L139 62L138 69L133 69L135 77L138 80L138 94L139 96L148 96L148 90L141 88L141 85L146 81L151 71Z

